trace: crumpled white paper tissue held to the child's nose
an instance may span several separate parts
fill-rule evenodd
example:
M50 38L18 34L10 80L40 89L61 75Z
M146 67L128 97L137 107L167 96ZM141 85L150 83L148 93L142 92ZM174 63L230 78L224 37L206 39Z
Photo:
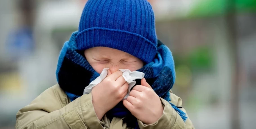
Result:
M102 82L103 79L105 79L105 77L107 76L107 70L109 70L109 68L104 68L103 71L101 72L100 76L97 77L95 80L93 80L88 86L85 87L84 94L91 93L92 88L95 87L100 82ZM136 84L135 80L143 79L145 74L142 72L138 72L138 71L131 72L131 70L128 70L128 69L120 69L119 71L121 71L123 73L123 78L129 84L128 93L123 98L123 100L124 100L129 96L131 88Z

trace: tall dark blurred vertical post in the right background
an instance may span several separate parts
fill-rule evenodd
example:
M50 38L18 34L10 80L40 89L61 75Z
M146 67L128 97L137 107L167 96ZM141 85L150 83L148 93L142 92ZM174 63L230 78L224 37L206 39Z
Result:
M227 1L226 25L229 38L229 47L231 47L231 56L233 57L233 75L231 87L231 102L230 102L230 119L231 128L240 129L240 110L239 110L239 82L240 82L240 61L238 56L237 43L237 10L236 0Z

